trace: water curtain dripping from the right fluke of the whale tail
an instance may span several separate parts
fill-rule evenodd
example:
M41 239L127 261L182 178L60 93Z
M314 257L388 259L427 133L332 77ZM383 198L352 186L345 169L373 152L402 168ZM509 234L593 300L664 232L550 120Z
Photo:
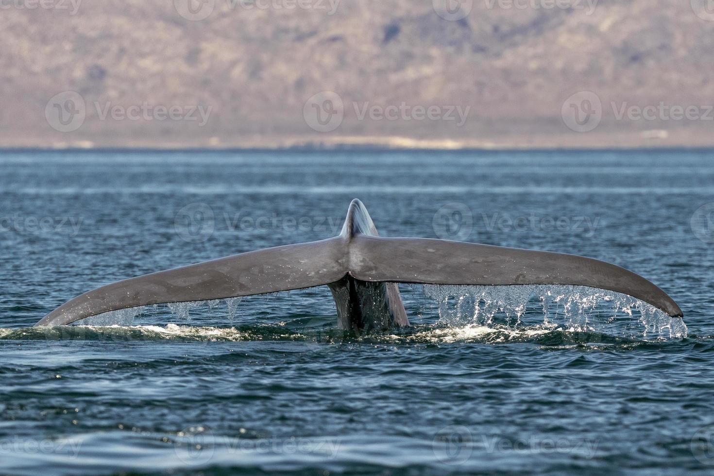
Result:
M662 310L623 293L573 285L424 285L438 300L439 320L451 326L516 328L537 315L538 325L643 338L683 338L687 326ZM529 304L536 301L540 306ZM536 308L540 312L535 312ZM503 319L505 317L505 320ZM635 320L636 317L636 320Z

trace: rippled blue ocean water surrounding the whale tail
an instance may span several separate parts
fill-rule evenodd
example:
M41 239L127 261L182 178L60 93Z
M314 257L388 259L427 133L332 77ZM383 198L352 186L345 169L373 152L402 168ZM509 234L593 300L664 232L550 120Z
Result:
M582 289L402 285L411 328L374 335L336 330L326 288L29 328L333 236L353 198L383 236L621 265L686 327ZM1 153L0 473L711 474L713 202L710 151Z

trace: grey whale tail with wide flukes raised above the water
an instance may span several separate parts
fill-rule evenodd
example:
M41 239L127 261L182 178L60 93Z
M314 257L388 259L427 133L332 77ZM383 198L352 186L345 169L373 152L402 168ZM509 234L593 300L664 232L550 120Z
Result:
M328 285L338 323L354 331L408 325L396 283L583 285L624 293L670 316L677 303L645 278L604 261L428 238L381 238L354 200L339 236L161 271L84 293L36 325L68 325L112 310Z

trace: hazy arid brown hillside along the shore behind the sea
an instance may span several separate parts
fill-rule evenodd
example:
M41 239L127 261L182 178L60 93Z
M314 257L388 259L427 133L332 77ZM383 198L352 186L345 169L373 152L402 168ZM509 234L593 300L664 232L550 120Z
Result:
M714 145L705 0L5 5L0 146Z

